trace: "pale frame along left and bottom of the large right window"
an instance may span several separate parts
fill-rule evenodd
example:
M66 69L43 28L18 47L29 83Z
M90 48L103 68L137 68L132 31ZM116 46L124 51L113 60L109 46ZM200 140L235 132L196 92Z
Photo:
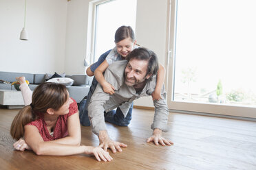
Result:
M228 106L218 104L199 104L194 102L173 101L175 80L175 40L177 26L178 0L169 0L169 26L168 26L168 68L167 68L167 104L172 112L185 112L191 114L224 115L239 117L240 119L256 119L256 108L246 106Z

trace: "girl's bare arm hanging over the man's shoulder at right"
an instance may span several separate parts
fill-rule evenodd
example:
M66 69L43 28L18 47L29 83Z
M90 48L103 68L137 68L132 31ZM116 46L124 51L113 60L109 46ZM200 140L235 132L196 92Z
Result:
M158 74L156 75L156 88L152 93L153 100L162 99L161 97L161 88L162 84L164 84L164 77L165 77L165 69L162 64L159 64Z

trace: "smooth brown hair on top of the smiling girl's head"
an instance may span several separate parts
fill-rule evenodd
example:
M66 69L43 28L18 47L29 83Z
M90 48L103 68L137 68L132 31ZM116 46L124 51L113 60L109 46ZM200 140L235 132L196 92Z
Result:
M118 27L115 34L115 42L125 40L126 38L131 38L132 42L135 40L134 30L130 26Z

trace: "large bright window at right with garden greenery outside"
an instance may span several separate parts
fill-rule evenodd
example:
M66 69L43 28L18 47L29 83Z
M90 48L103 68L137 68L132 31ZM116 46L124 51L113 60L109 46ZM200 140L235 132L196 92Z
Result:
M252 0L172 3L173 108L256 117L255 8Z

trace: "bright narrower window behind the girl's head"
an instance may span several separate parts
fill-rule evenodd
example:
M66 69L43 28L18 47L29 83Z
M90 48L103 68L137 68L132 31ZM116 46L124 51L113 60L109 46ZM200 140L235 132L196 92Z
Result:
M135 31L136 0L99 1L94 3L94 24L92 38L92 61L96 62L101 54L115 47L116 29L129 25Z

